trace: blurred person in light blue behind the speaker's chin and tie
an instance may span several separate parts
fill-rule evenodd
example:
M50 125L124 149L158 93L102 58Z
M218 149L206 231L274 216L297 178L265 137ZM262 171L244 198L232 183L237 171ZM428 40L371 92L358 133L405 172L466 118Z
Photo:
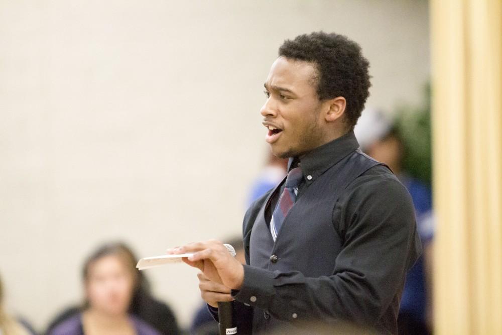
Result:
M288 160L276 157L269 151L266 166L252 184L247 198L246 208L255 202L256 199L276 187L287 174Z

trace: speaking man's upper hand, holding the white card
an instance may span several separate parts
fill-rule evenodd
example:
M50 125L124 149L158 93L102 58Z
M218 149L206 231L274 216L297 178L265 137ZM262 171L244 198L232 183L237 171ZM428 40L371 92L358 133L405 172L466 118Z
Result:
M210 281L238 290L244 281L244 267L215 240L190 243L168 251L169 254L194 253L183 258L186 264L198 268Z

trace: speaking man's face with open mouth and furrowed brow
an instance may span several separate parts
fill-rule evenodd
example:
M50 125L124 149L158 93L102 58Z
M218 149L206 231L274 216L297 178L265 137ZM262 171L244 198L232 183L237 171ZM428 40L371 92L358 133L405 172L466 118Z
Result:
M316 76L309 62L279 57L272 64L261 114L269 129L266 141L277 157L299 156L323 144Z

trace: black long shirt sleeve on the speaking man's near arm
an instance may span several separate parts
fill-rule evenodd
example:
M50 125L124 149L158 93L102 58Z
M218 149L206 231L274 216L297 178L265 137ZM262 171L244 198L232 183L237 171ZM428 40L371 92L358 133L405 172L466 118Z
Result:
M333 256L332 275L310 278L298 271L244 266L244 282L234 298L284 321L345 320L374 326L400 296L420 241L404 186L390 177L360 178L334 204L334 224L338 222L344 245Z

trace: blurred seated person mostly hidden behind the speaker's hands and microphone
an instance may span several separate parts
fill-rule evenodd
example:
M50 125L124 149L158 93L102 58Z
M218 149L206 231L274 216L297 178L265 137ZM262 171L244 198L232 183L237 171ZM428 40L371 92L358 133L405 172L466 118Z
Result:
M228 240L223 240L224 243L231 245L235 249L235 258L242 264L246 263L244 258L244 244L241 237L235 237ZM209 310L207 304L202 301L201 306L195 312L195 315L190 325L190 334L192 335L218 335L219 326Z

